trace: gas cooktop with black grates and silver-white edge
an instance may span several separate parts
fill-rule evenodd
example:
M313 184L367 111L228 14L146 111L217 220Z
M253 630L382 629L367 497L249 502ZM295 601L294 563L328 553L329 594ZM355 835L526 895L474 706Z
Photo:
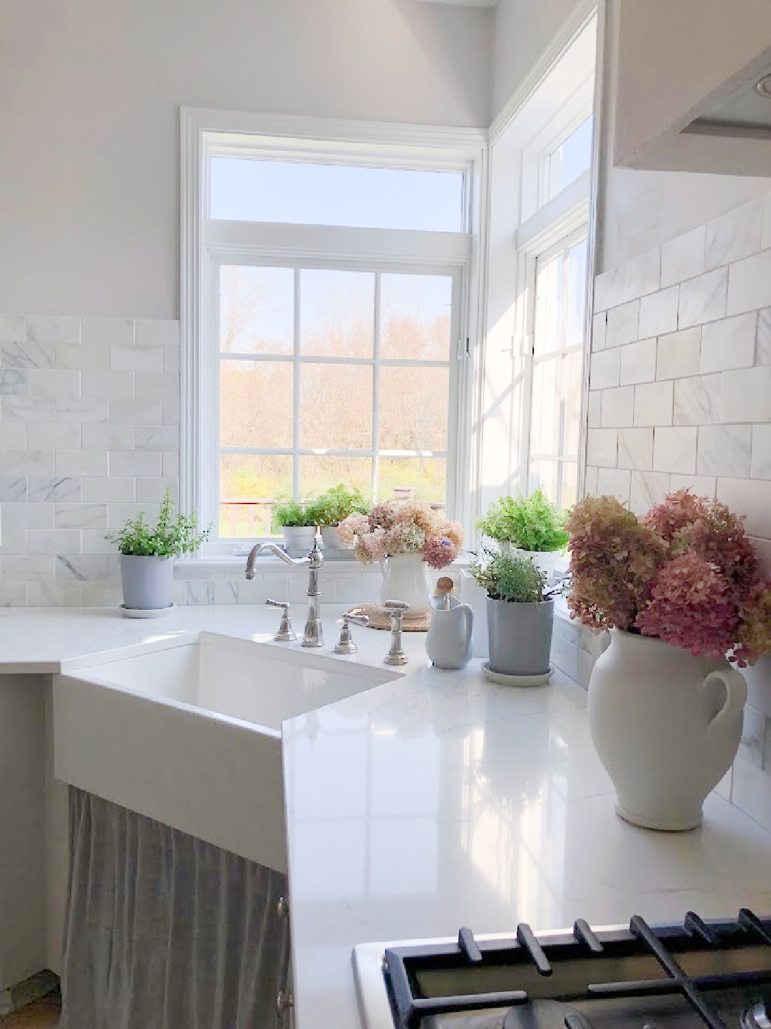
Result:
M363 944L365 1029L771 1029L771 918Z

